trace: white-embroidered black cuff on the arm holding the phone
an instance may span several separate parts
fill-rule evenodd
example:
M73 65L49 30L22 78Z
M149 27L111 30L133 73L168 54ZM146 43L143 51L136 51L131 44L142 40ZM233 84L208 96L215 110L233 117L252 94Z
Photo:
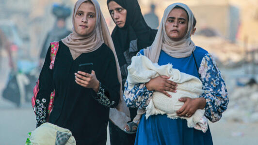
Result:
M97 92L97 97L95 99L102 105L106 107L110 107L111 105L114 104L114 101L110 103L110 100L108 97L105 96L105 90L103 87L101 87L101 83L99 82L99 90Z

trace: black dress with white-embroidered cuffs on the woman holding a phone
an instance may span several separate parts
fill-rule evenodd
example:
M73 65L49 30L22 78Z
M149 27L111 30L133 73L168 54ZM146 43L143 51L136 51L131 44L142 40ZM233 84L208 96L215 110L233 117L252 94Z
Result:
M93 63L100 89L84 88L75 82L74 73L79 64ZM69 48L59 42L54 68L49 69L50 47L39 76L36 100L37 126L46 122L50 93L55 89L53 110L49 115L52 124L69 129L77 145L105 145L109 107L118 104L120 83L113 52L105 44L90 53L82 53L73 60Z

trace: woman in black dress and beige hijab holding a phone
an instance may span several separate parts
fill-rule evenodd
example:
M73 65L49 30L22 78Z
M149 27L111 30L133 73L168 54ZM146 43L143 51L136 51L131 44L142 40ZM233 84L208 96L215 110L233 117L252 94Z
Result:
M121 128L129 121L113 41L97 0L78 0L72 23L73 32L58 42L53 69L49 69L52 46L48 48L36 97L37 126L49 122L69 129L77 145L105 145L109 117ZM93 64L90 72L79 71L86 63Z

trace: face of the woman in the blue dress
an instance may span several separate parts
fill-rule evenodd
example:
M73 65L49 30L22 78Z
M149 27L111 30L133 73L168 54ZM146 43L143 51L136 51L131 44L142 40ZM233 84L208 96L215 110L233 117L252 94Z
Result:
M173 41L181 40L188 29L187 13L181 8L174 8L165 23L167 36Z

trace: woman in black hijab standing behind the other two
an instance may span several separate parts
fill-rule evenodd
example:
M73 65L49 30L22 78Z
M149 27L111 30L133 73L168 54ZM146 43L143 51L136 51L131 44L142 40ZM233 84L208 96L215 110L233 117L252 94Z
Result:
M110 15L116 26L112 39L122 74L122 84L127 79L127 67L131 57L139 50L151 46L157 30L151 29L145 22L137 0L107 0ZM136 116L137 109L129 108L131 120ZM127 130L128 134L109 121L111 145L133 145L136 129Z

